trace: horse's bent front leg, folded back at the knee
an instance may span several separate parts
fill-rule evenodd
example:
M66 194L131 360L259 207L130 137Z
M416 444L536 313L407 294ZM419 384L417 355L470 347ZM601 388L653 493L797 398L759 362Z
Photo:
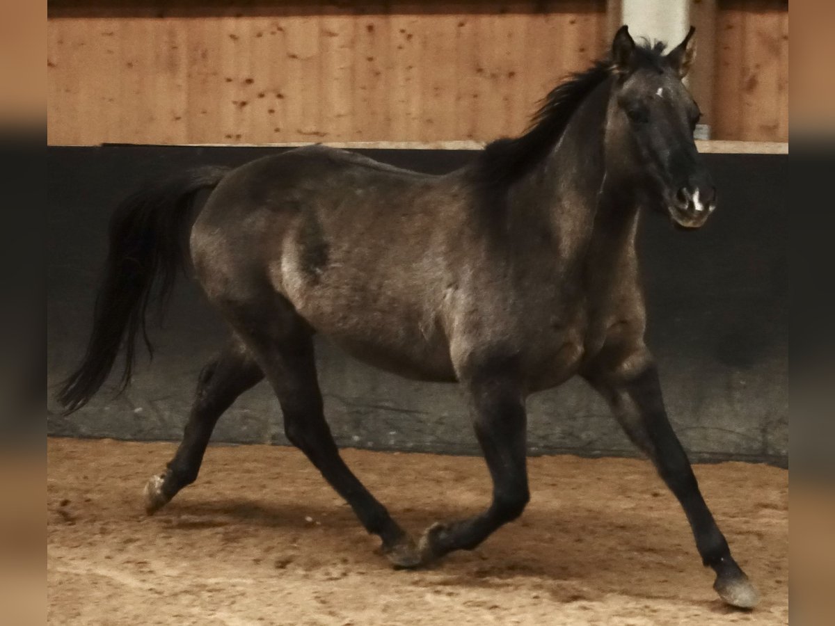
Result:
M472 400L478 442L493 477L490 506L476 516L436 523L419 543L422 563L453 550L471 550L522 514L529 500L524 399L514 381L477 376L465 383Z

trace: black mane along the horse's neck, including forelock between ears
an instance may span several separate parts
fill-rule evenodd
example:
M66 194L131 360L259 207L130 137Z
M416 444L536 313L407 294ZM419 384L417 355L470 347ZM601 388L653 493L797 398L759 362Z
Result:
M651 67L663 68L662 42L641 43L635 48L633 71ZM595 88L615 74L610 58L602 58L584 72L571 74L543 99L524 134L513 139L497 139L484 147L478 160L482 184L495 190L527 173L549 153L559 141L572 114Z

